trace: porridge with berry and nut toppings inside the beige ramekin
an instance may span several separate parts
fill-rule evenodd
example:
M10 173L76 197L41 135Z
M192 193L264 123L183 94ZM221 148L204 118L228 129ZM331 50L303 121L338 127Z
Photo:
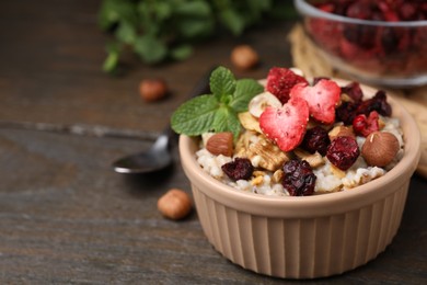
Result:
M400 119L384 91L365 94L358 82L308 80L281 67L261 83L249 88L238 130L198 134L197 162L224 184L276 196L347 191L384 175L403 156Z

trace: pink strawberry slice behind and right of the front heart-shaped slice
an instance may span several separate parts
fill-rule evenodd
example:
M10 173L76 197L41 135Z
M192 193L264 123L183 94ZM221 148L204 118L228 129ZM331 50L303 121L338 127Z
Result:
M310 115L323 123L335 121L335 106L339 101L341 88L332 80L322 79L315 86L299 83L290 91L290 98L301 98L309 104Z

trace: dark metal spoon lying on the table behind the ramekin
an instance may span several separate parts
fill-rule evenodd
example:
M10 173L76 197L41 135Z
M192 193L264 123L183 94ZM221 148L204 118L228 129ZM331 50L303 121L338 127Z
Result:
M207 94L209 92L209 78L214 69L215 68L209 69L209 71L200 78L191 93L192 98L200 94ZM124 157L114 161L112 164L114 171L131 174L149 173L166 168L173 161L171 155L171 140L176 135L172 130L171 126L168 125L148 151Z

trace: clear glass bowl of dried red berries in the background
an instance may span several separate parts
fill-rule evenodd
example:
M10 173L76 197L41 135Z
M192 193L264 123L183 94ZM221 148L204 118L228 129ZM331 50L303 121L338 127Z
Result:
M427 83L427 2L295 0L307 34L353 78L388 87Z

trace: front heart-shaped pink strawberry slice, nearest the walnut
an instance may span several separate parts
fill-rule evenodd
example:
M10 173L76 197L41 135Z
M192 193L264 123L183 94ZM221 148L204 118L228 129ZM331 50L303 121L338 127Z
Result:
M282 151L290 151L302 141L308 121L309 105L305 100L291 98L281 107L268 106L259 116L259 126Z

